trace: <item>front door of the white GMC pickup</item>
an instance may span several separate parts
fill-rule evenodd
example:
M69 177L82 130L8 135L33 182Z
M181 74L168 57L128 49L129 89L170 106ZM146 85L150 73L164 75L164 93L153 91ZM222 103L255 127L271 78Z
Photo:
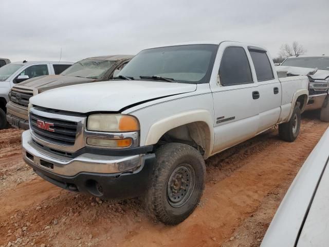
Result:
M259 122L259 92L254 83L247 47L220 46L217 85L212 85L214 101L213 153L254 136Z

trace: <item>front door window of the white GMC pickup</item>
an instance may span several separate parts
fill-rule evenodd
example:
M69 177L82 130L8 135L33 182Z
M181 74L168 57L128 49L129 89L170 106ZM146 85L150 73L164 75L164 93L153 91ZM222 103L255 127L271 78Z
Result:
M224 50L220 81L223 86L253 83L246 51L243 47L227 47Z

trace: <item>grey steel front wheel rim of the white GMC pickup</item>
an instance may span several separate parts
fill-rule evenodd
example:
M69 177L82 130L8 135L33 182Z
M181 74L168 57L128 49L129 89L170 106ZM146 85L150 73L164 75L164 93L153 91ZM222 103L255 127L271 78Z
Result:
M167 200L172 207L181 207L190 199L195 180L195 171L190 164L181 164L171 173L167 184Z

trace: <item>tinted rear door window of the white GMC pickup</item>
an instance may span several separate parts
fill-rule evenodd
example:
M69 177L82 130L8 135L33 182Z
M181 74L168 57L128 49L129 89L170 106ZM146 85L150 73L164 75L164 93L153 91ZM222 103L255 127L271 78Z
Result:
M249 50L258 81L274 79L272 66L264 50Z

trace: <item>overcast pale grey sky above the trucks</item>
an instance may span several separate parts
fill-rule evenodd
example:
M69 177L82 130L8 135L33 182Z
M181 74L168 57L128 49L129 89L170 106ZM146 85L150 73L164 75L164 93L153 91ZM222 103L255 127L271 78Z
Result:
M243 41L277 57L298 41L329 55L329 0L0 0L0 57L77 61L189 41Z

